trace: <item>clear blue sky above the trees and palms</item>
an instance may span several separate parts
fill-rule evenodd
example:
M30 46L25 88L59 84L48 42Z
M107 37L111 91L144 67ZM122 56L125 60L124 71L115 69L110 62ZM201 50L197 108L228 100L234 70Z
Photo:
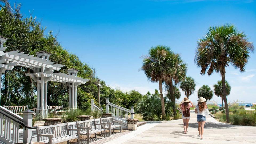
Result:
M203 84L213 87L219 74L200 75L194 64L197 41L209 26L234 24L256 41L256 4L254 0L129 0L129 1L10 1L21 3L21 12L42 21L46 31L58 34L58 41L77 54L90 67L100 71L107 85L123 91L136 89L142 94L159 89L147 81L141 56L151 46L167 45L188 64L187 75L197 82L195 94ZM254 43L254 45L256 45ZM232 89L228 101L256 102L255 53L240 73L232 66L226 80ZM182 92L182 97L184 93ZM221 102L214 95L213 101Z

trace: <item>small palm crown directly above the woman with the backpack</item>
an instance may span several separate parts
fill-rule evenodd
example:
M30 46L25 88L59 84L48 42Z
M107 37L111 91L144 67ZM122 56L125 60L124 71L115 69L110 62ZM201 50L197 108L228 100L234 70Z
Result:
M195 91L195 85L195 80L192 77L186 76L179 87L185 92L187 98L189 98Z

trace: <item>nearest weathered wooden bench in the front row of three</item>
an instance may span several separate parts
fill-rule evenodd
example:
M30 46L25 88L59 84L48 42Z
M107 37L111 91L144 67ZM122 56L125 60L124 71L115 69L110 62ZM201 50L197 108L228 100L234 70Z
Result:
M69 131L77 131L77 135L69 134ZM77 142L69 142L71 139L77 138ZM37 126L37 141L42 143L59 143L67 141L67 143L80 143L80 129L69 129L68 123L61 123L50 126Z

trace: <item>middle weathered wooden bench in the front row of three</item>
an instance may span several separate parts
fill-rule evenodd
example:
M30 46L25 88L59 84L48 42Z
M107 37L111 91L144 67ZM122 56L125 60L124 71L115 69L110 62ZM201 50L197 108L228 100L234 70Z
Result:
M95 134L95 138L96 138L96 133L99 132L104 132L104 138L106 137L106 126L107 124L100 124L100 123L96 123L96 119L90 119L90 120L86 120L86 121L77 121L77 129L82 129L82 131L80 132L80 135L87 135L87 144L90 143L90 135ZM98 128L97 128L98 126ZM103 126L103 129L101 129ZM83 141L81 139L81 141Z

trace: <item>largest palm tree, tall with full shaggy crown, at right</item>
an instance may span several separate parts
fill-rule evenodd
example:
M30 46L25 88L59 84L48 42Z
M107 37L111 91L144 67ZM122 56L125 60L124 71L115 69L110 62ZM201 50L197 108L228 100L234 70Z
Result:
M244 72L251 51L254 51L252 42L243 32L229 24L210 27L205 37L198 41L195 63L201 68L201 75L207 70L208 75L214 71L221 74L227 122L230 122L230 118L225 89L226 67L233 65Z

